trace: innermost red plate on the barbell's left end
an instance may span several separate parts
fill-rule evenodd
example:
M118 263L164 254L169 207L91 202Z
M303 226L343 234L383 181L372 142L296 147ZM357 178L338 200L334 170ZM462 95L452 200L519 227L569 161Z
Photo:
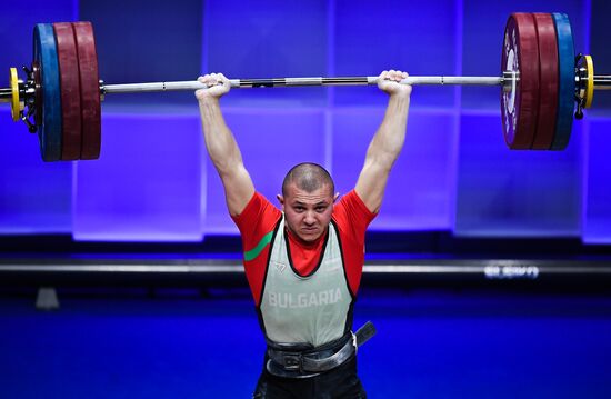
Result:
M100 158L102 139L100 109L100 76L93 27L90 22L72 22L79 53L81 78L82 144L81 159Z

